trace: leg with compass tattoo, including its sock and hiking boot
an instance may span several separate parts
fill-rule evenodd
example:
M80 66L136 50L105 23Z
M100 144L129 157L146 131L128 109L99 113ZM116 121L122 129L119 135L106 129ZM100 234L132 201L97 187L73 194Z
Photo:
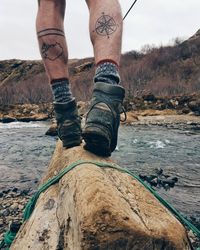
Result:
M117 144L124 89L119 85L122 14L117 0L87 0L96 73L91 109L83 131L85 148L109 156Z

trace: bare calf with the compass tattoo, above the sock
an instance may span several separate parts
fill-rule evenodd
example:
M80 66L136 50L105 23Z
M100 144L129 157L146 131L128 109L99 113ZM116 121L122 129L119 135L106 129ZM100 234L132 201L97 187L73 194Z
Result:
M122 13L117 0L87 0L90 37L95 62L109 59L119 65L122 43Z

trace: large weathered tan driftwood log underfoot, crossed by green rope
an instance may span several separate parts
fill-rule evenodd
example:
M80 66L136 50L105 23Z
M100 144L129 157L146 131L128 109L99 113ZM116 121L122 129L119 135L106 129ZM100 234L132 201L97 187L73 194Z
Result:
M111 161L59 141L42 183L77 160ZM11 250L191 249L184 227L137 180L77 166L42 193Z

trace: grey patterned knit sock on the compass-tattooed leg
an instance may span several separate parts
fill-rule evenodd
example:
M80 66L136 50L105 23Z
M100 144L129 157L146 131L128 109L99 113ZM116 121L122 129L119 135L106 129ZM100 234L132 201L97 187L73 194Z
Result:
M103 60L97 64L94 82L105 82L109 84L120 84L118 66L111 60Z

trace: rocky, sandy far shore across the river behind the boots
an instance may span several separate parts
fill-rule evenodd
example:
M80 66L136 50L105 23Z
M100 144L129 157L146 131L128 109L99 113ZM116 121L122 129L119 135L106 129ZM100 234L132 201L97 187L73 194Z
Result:
M188 106L188 112L186 112L186 104L183 105L184 107L179 105L177 108L166 108L169 106L167 104L169 101L165 101L165 109L160 109L160 101L156 99L157 101L155 103L152 101L152 96L151 98L151 101L145 101L147 96L143 97L143 101L141 101L141 99L140 101L137 100L134 105L137 103L138 106L135 108L131 103L129 103L129 106L125 106L126 120L123 122L125 117L123 117L124 115L122 114L121 124L126 126L165 126L169 129L188 130L190 133L196 133L200 131L200 104L198 112L197 107L195 108L196 111L194 111L194 109L189 109ZM140 103L140 105L138 103ZM145 108L144 104L146 105ZM130 105L132 105L132 108L130 108ZM83 118L83 124L88 107L88 102L78 102L78 111L80 116ZM47 130L46 135L56 136L57 125L51 103L0 106L0 122L2 123L45 120L52 121L52 125Z

